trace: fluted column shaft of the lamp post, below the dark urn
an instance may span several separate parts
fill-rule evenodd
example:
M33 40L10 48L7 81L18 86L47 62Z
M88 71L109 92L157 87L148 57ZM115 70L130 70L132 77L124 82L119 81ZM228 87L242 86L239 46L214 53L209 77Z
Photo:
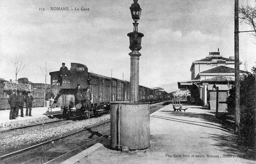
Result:
M129 53L131 56L130 101L138 101L139 91L139 59L141 53L135 50Z

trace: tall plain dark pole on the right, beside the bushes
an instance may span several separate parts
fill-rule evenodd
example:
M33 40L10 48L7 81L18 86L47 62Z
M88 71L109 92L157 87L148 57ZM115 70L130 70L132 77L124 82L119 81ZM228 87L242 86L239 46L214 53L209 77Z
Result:
M238 0L235 0L235 134L240 135L240 72Z

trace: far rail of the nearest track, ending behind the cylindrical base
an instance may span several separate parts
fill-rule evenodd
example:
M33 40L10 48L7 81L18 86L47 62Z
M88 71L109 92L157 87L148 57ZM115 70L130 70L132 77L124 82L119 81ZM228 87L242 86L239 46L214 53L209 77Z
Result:
M31 147L28 147L28 148L25 148L25 149L21 149L21 150L18 150L18 151L9 153L9 154L2 155L2 156L0 156L0 159L6 158L7 156L14 155L14 154L16 154L16 153L20 153L20 152L23 152L23 151L26 151L26 150L33 149L33 148L38 147L38 146L41 146L41 145L45 145L45 144L47 144L47 143L50 143L50 142L53 142L53 141L56 141L56 140L60 140L60 139L62 139L62 138L66 138L66 137L72 136L72 135L77 134L77 133L81 133L81 132L83 132L83 131L86 131L87 129L91 129L91 128L94 128L94 127L97 127L97 126L101 126L101 125L104 125L104 124L109 123L109 122L110 122L110 121L105 122L105 123L102 123L102 124L100 124L100 125L88 127L88 128L85 128L85 129L83 129L83 130L81 130L81 131L78 131L78 132L75 132L75 133L72 133L72 134L68 134L68 135L66 135L66 136L62 136L62 137L59 137L59 138L55 138L55 139L52 139L52 140L50 140L50 141L45 141L45 142L39 143L39 144L37 144L37 145L31 146Z

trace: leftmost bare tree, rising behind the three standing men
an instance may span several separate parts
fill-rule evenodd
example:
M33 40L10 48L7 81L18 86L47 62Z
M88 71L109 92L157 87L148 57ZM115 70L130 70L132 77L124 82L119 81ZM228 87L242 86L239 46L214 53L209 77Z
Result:
M15 72L15 85L16 85L16 90L17 90L17 74L19 71L23 70L26 66L26 60L24 58L24 55L15 55L14 58L11 58L11 63L13 70Z

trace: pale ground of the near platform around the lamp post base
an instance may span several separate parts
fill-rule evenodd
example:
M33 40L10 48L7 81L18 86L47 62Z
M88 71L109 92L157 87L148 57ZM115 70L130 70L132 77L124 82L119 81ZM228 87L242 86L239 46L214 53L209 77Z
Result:
M185 108L186 112L174 112L168 105L151 114L149 149L123 153L108 143L76 164L256 163L253 154L238 149L232 130L215 119L214 111Z

